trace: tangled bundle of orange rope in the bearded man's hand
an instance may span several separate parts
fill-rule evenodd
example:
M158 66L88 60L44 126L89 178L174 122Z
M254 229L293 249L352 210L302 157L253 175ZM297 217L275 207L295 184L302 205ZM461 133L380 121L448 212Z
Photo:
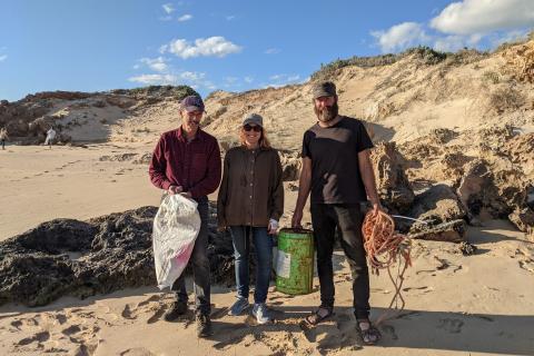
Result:
M378 276L380 269L387 268L389 279L395 286L395 295L389 303L388 310L380 315L375 323L378 325L393 317L393 315L400 314L404 309L405 301L400 290L404 283L404 273L408 266L412 266L409 257L411 240L405 235L395 231L393 218L379 210L376 215L373 211L367 212L362 226L362 233L364 235L367 263L372 273ZM397 260L397 274L394 278L390 267ZM394 310L392 310L392 307L394 307Z

